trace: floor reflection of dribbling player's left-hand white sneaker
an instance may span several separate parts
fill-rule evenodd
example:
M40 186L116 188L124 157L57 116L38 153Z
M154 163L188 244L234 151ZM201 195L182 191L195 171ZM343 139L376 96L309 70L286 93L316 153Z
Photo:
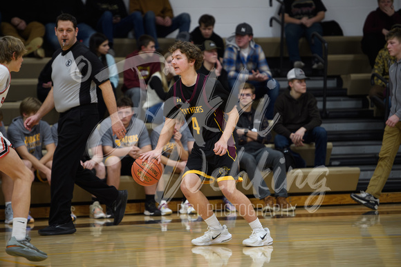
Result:
M209 266L227 266L228 259L230 259L232 255L232 250L230 250L230 248L223 248L221 246L198 246L192 248L192 253L205 257Z

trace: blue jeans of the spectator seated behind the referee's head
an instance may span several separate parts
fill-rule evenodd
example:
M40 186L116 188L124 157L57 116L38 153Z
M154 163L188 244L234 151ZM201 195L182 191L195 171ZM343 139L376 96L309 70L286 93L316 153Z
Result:
M59 40L57 39L57 36L55 34L55 26L56 23L46 23L46 32L44 34L46 41L50 44L53 50L57 50L61 47ZM96 31L93 30L93 28L91 26L88 26L88 24L86 23L78 23L77 28L77 40L82 41L85 46L89 47L89 39L91 38L91 35L94 34Z

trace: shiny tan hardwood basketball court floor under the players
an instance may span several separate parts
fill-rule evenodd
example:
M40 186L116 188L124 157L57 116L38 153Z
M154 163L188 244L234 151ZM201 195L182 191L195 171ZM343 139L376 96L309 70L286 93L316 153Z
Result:
M364 206L321 207L309 213L277 212L259 218L274 243L246 248L251 234L241 217L216 214L233 238L222 245L195 247L206 224L195 216L127 215L120 226L109 219L78 217L73 235L41 237L32 225L32 243L48 253L38 263L11 257L4 248L9 226L0 225L0 266L400 266L401 204L383 204L378 212Z

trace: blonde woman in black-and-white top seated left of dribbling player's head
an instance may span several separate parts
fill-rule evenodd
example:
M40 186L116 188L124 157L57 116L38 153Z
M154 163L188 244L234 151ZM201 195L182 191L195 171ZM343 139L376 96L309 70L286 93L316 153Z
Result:
M176 80L179 78L171 65L173 58L171 53L165 54L166 66L164 70L153 73L149 79L147 86L147 97L143 104L146 110L146 122L151 122L159 125L163 122L163 103L166 100L167 92ZM167 75L165 74L167 73Z

